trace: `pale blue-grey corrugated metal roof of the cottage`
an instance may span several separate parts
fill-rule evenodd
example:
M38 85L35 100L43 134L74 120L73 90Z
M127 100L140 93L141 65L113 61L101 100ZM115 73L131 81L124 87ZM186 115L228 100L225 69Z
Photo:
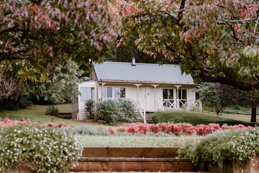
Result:
M98 81L194 84L190 74L181 74L179 65L103 62L93 67Z

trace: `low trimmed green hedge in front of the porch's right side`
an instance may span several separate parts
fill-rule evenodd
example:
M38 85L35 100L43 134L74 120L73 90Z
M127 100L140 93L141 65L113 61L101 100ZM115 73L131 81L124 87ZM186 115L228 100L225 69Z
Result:
M156 111L152 116L153 122L173 122L173 123L190 123L193 126L198 124L210 124L218 123L220 126L223 124L227 125L238 125L243 124L244 126L259 126L258 123L240 121L230 118L221 117L218 115L210 115L199 112L183 112L183 111Z

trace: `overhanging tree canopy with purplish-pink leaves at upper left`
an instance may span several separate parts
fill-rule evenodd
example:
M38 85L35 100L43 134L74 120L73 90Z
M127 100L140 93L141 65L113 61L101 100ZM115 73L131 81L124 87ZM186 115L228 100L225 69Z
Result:
M4 75L46 81L49 66L64 67L72 60L85 70L89 58L101 62L119 35L116 12L108 0L1 1L0 67Z

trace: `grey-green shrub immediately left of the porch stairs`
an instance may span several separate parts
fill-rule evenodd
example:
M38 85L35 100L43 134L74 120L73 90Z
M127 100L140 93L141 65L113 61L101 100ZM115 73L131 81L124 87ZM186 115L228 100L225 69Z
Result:
M123 119L126 122L134 122L137 118L136 114L136 104L133 100L125 99L123 102L120 103L120 112L123 113Z

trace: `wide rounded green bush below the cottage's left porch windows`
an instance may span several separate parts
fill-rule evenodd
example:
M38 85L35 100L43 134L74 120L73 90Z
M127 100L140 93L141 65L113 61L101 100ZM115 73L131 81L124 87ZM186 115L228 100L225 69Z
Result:
M103 123L117 125L123 120L123 114L119 110L119 102L114 100L99 101L96 103L95 113L97 119Z

